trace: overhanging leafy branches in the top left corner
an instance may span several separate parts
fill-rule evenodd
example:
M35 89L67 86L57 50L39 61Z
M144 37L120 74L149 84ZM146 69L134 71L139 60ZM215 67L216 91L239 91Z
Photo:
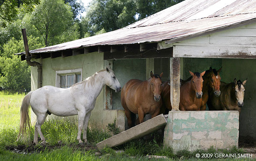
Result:
M40 0L0 0L0 26L6 27L20 12L32 12Z

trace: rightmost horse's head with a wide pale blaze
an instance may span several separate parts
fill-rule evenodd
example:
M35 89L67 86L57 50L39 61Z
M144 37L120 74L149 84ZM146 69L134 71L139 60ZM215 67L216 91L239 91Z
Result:
M246 83L247 79L243 82L241 82L240 80L236 81L236 78L234 79L234 83L235 83L235 93L236 93L236 99L238 102L238 107L243 107L243 97L244 97L244 92L245 92L245 83Z

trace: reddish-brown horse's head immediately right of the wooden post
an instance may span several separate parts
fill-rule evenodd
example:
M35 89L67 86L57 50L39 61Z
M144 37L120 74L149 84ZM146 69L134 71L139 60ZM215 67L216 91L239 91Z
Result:
M192 83L192 88L196 93L196 97L202 98L202 94L203 94L202 93L202 83L203 83L202 76L205 74L205 71L202 73L197 73L197 72L193 73L189 70L189 73L192 76L191 83Z

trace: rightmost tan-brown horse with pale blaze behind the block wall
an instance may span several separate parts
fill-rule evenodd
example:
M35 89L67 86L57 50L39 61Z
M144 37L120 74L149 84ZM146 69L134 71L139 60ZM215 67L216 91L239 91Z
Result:
M224 83L220 84L220 97L215 97L211 93L209 100L207 101L207 106L209 110L236 110L241 112L241 107L243 107L243 97L245 92L245 83L247 79L243 82L240 80L234 83Z

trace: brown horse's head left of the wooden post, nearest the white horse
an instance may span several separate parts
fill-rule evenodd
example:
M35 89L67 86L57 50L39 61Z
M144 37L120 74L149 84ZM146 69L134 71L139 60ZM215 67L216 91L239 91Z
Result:
M158 74L153 74L153 72L150 72L150 76L151 76L151 91L154 94L154 100L155 101L160 101L161 98L161 77L163 75L163 72L158 75Z

